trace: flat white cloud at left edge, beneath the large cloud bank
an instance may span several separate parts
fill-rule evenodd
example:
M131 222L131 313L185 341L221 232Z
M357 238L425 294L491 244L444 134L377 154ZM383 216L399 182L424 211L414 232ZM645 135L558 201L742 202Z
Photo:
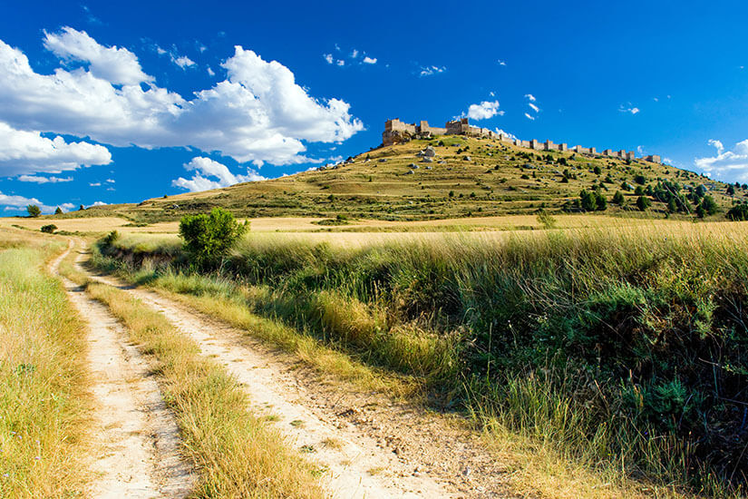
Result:
M2 111L0 111L2 113ZM0 122L0 176L44 171L59 173L81 165L109 164L112 154L101 145L65 142L63 137L43 137L40 132L24 132Z

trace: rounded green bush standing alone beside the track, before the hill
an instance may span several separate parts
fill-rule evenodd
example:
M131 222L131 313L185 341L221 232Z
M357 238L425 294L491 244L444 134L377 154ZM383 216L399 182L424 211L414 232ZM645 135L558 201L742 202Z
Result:
M180 220L184 248L198 267L217 264L247 230L248 222L239 224L234 215L221 208L209 214L185 215Z

